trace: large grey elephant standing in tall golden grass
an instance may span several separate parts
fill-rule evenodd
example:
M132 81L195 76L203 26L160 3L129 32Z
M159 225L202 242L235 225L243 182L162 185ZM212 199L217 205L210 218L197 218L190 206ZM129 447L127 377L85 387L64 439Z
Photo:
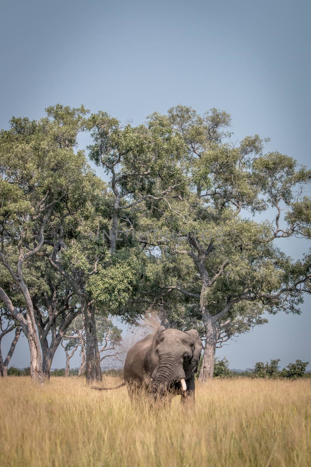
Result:
M132 398L134 390L145 390L161 398L167 393L181 394L182 402L194 401L194 373L200 360L202 343L194 329L178 331L159 326L155 334L139 340L129 350L124 364L124 380ZM181 389L184 378L187 390Z

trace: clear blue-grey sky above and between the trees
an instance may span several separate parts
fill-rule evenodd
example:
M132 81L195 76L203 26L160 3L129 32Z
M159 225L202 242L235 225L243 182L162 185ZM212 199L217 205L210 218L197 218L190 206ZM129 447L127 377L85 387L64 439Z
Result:
M271 138L267 151L311 166L310 2L10 0L0 8L1 128L56 103L133 125L178 104L216 107L231 114L233 141L258 133ZM297 258L310 245L283 248ZM307 297L299 316L268 316L216 355L242 369L272 358L311 362L310 307ZM25 337L11 364L29 365ZM61 348L52 367L64 365Z

